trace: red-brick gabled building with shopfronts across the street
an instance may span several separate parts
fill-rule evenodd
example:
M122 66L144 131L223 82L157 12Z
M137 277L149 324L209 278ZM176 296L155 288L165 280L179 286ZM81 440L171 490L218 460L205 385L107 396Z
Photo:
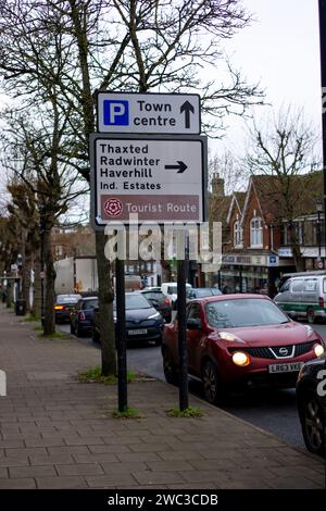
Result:
M246 192L228 197L221 180L213 178L211 214L223 223L223 265L215 282L224 291L273 296L280 274L324 264L324 215L316 211L322 172L289 176L286 183L251 176Z

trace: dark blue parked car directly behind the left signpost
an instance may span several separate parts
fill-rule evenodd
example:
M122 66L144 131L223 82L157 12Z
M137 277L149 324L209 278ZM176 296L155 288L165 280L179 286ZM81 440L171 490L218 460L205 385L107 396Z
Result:
M113 302L114 322L116 322L116 303ZM95 313L92 325L92 339L100 341L98 312ZM126 339L154 341L162 344L164 321L160 312L154 309L140 292L126 292Z

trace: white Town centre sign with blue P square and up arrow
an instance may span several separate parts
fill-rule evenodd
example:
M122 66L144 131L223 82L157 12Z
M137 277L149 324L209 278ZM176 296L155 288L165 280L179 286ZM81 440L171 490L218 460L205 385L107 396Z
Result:
M178 94L98 92L98 132L200 134L200 97Z

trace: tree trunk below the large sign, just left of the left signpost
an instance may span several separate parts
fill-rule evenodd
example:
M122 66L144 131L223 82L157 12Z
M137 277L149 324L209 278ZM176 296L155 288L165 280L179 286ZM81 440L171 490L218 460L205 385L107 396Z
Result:
M106 236L96 233L99 277L99 326L102 351L102 374L116 374L115 331L113 321L114 289L112 287L111 262L104 256Z

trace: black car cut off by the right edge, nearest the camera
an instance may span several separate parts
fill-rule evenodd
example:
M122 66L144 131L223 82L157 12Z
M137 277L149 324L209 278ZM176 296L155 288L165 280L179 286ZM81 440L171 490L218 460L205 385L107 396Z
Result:
M325 456L325 354L306 362L301 369L297 382L297 406L306 448Z

